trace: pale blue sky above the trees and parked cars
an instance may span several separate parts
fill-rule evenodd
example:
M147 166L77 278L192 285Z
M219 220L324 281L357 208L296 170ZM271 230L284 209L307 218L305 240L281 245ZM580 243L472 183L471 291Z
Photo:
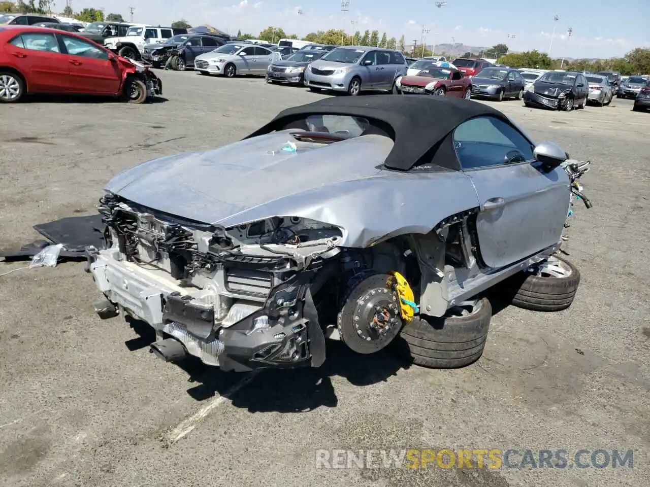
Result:
M63 4L64 0L57 1ZM562 0L448 0L436 8L433 0L411 0L408 8L394 0L350 0L344 18L340 0L75 0L74 10L86 6L116 12L128 19L169 24L184 18L192 25L209 23L224 31L258 34L269 25L282 27L287 34L341 29L352 33L378 29L389 37L404 34L407 44L422 38L422 25L430 30L426 43L462 42L487 46L505 42L515 51L548 51L553 25L556 34L551 56L622 56L634 47L650 47L650 0L627 0L625 10L611 0L567 2ZM304 14L298 14L302 10ZM526 13L524 13L526 12ZM553 21L553 16L559 16ZM356 24L353 24L355 21ZM573 33L567 40L567 29ZM514 38L508 38L508 34Z

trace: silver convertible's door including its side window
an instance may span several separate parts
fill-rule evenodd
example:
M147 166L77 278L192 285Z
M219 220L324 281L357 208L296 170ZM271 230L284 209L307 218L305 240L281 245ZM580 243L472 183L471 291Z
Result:
M502 268L560 242L570 196L564 169L543 173L532 143L491 116L461 123L452 138L480 203L476 232L487 266Z

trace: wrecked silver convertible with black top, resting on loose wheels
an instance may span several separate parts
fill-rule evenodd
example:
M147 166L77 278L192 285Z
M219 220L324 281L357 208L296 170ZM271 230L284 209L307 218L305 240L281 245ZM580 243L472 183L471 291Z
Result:
M556 255L566 162L474 101L288 108L244 140L108 182L96 310L151 325L164 360L224 371L321 366L333 331L357 354L395 340L422 366L465 366L486 343L487 289L532 310L573 301L580 274Z

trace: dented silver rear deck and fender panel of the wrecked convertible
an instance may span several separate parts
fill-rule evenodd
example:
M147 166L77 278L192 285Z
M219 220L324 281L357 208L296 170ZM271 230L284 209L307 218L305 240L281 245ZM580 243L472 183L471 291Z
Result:
M435 176L382 169L393 141L379 135L335 144L296 142L274 132L212 151L159 158L120 173L105 189L152 210L226 228L297 216L344 229L338 245L426 233L442 218L478 206L460 171Z

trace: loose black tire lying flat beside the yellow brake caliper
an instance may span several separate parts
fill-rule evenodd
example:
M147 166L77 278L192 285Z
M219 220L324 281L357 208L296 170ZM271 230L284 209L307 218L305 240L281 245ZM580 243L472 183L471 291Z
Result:
M391 349L422 367L455 369L476 362L485 348L492 306L478 299L471 314L443 318L413 318Z

